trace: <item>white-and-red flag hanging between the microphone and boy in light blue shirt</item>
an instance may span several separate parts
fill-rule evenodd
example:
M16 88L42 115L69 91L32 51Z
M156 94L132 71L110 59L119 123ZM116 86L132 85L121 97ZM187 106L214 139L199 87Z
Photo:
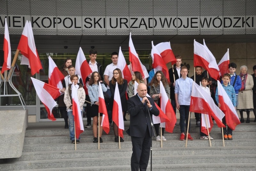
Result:
M165 128L167 132L173 132L173 128L176 124L176 114L174 113L174 110L172 108L172 104L169 100L169 97L166 94L166 91L164 89L163 83L160 81L160 93L162 96L161 99L161 110L164 111L165 115L169 118L169 122L162 122L160 123L160 127Z

